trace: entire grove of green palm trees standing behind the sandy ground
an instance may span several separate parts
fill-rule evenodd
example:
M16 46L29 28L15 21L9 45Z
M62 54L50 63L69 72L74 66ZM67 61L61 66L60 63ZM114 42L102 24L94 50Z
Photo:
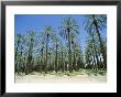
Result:
M48 25L40 33L29 31L26 35L15 35L15 72L29 74L33 71L57 73L79 68L106 69L107 46L101 32L106 29L107 17L84 17L84 26L88 33L85 53L77 40L80 25L75 19L65 18L57 31Z

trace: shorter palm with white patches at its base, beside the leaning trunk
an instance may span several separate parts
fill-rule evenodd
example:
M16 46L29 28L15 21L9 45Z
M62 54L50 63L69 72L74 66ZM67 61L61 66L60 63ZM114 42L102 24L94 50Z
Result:
M89 64L92 64L94 71L97 71L100 67L102 61L100 60L101 51L100 51L100 43L98 40L98 35L95 34L94 32L89 33L86 52L87 52L86 54L89 55L88 57L91 58ZM89 52L90 52L90 54L89 54ZM86 57L86 58L88 58L88 57ZM88 60L87 60L87 63L88 63Z

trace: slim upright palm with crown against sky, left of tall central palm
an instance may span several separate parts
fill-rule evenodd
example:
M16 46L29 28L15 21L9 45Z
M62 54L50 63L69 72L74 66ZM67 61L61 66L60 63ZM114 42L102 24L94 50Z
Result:
M43 36L44 39L46 40L46 66L45 66L45 73L47 73L47 58L48 58L48 42L50 42L50 39L53 36L53 33L54 33L54 29L52 26L45 26L44 28L44 31L43 31Z

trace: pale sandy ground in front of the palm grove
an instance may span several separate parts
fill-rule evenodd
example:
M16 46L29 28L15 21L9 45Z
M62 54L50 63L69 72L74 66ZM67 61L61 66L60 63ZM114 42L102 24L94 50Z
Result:
M15 83L106 83L106 75L89 75L85 72L75 75L64 75L64 74L41 74L31 73L29 75L16 75Z

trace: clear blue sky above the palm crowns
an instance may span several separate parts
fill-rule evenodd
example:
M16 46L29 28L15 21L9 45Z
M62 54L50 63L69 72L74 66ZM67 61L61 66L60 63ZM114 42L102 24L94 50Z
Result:
M74 18L79 24L79 43L81 45L82 52L85 52L87 32L82 26L84 17L81 14L15 14L14 15L14 33L25 35L28 31L33 30L36 33L43 31L44 26L51 25L55 30L62 25L64 18ZM102 37L106 37L106 30L103 30Z

